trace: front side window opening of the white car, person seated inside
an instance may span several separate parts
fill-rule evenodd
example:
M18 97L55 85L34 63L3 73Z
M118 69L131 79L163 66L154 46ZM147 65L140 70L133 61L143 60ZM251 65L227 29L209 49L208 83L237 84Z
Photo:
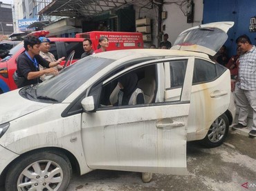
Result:
M121 81L122 77L131 76L131 74L136 76L136 80L130 80L126 83L127 86L133 87L133 90L128 93L129 97L127 99L126 105L120 105L120 86L118 82ZM111 77L111 76L110 76ZM122 79L123 80L123 79ZM131 81L136 83L136 86L131 85ZM140 96L143 94L143 103L154 103L156 97L156 65L153 64L151 66L145 66L141 68L136 68L135 70L131 70L126 72L116 79L109 81L108 83L102 86L101 94L100 94L100 101L99 101L99 108L106 108L107 106L127 106L127 105L139 105L140 103L136 103L139 99L135 99L135 102L132 102L131 98L135 94L137 95L140 93ZM125 84L123 84L125 86ZM139 90L138 90L139 89ZM121 91L123 92L123 91ZM142 94L141 94L142 93ZM123 94L125 96L125 93ZM123 97L122 97L123 98ZM109 108L109 107L107 107ZM113 107L112 107L113 108Z

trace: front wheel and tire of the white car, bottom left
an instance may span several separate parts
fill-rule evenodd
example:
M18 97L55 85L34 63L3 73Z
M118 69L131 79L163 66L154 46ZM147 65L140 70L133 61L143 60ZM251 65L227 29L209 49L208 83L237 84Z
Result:
M66 190L71 175L71 163L65 155L32 152L11 165L6 190Z

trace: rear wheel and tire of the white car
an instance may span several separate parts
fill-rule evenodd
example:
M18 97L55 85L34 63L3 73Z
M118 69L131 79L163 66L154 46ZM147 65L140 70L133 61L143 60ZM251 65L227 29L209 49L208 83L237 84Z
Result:
M226 114L221 114L215 121L213 121L205 138L201 143L209 148L214 148L223 143L228 135L229 122Z

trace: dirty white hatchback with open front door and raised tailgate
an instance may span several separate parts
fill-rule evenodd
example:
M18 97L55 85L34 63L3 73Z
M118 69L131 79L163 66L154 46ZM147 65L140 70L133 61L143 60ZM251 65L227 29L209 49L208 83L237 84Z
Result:
M232 25L185 30L172 50L93 54L44 83L1 94L6 190L65 190L73 169L186 174L187 141L220 145L235 116L230 72L209 58ZM129 72L145 104L111 106L116 79Z

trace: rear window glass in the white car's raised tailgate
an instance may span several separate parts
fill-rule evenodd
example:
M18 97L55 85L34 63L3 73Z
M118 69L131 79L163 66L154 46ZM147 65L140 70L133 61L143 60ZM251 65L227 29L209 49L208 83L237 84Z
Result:
M196 28L181 33L174 46L192 46L194 51L195 46L203 46L218 52L227 39L228 34L219 28Z

